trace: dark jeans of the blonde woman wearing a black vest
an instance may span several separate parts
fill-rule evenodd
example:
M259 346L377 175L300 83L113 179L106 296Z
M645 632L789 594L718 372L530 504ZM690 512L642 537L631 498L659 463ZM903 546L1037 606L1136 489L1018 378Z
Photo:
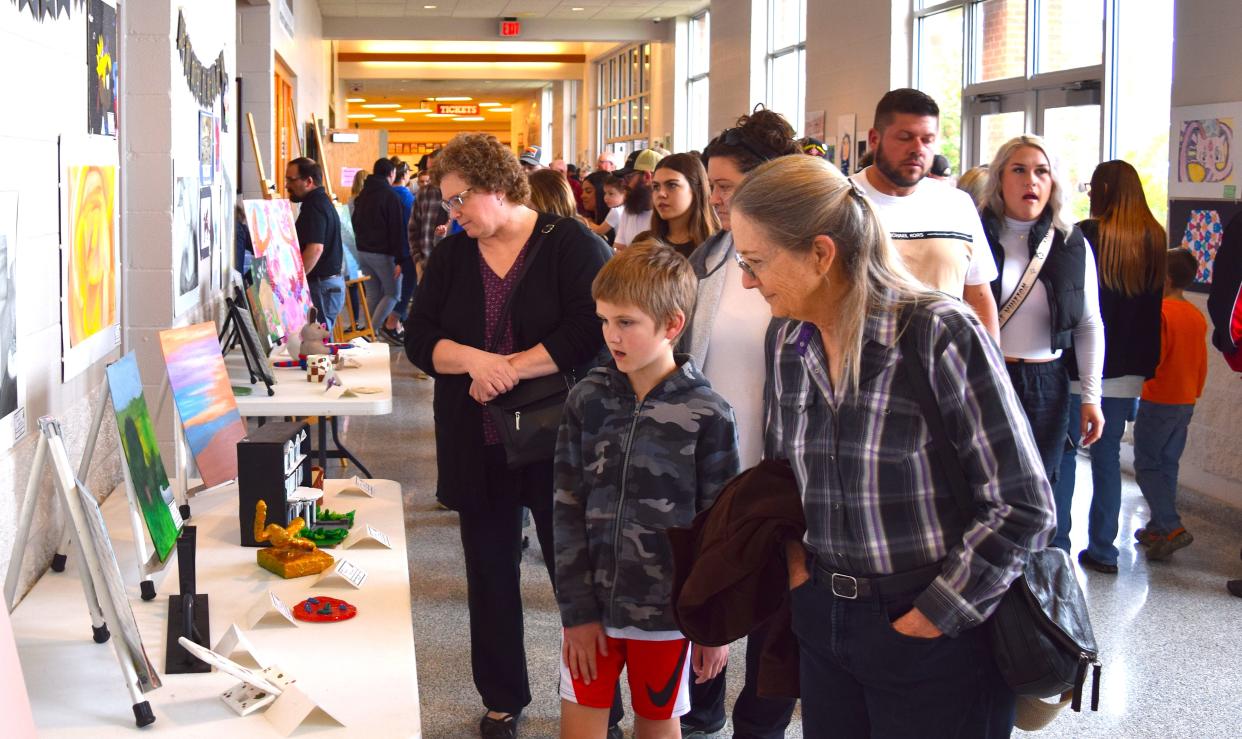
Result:
M1061 457L1069 443L1069 374L1062 360L1043 363L1007 361L1010 383L1031 422L1035 446L1048 482L1056 484Z

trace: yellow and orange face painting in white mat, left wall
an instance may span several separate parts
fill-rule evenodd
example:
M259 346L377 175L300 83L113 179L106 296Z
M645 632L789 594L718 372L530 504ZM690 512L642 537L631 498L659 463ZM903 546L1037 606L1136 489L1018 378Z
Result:
M65 302L70 347L117 323L117 168L71 166Z

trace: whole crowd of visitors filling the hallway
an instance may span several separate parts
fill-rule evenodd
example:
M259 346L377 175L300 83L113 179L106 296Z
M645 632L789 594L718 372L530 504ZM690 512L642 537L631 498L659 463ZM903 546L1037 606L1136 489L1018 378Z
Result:
M807 737L1009 735L1020 700L981 625L1033 551L1069 553L1083 453L1084 569L1117 575L1119 535L1153 561L1194 542L1177 476L1208 363L1182 293L1195 257L1169 248L1125 161L1095 168L1077 224L1054 140L1018 135L954 181L939 116L888 92L854 171L758 107L702 152L605 152L589 173L460 134L359 178L371 320L435 379L482 737L517 737L532 700L528 519L573 738L621 735L622 672L637 737L725 725L729 650L687 637L667 532L740 525L725 517L756 488L746 515L792 510L796 535L738 555L777 559L787 583L784 617L748 627L735 737L782 737L799 698ZM359 322L340 314L322 171L294 160L286 188L319 315ZM1149 520L1119 533L1130 421ZM781 648L796 689L771 677Z

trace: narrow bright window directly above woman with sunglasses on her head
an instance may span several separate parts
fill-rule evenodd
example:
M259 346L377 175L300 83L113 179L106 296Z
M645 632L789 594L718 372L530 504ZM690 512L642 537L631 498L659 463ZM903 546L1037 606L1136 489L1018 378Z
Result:
M802 135L805 102L806 0L768 0L768 107Z

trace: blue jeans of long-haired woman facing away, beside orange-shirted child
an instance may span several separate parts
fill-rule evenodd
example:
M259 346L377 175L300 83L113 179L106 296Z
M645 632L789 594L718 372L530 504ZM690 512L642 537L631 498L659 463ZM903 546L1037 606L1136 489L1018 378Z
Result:
M1092 496L1087 517L1087 554L1095 561L1117 564L1117 529L1122 515L1122 435L1125 422L1134 420L1136 397L1104 397L1104 433L1088 447L1090 453ZM1082 396L1069 396L1069 438L1074 448L1061 458L1061 473L1052 486L1057 499L1057 535L1053 546L1069 551L1071 508L1074 501L1077 447L1082 431Z

